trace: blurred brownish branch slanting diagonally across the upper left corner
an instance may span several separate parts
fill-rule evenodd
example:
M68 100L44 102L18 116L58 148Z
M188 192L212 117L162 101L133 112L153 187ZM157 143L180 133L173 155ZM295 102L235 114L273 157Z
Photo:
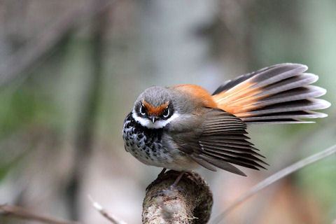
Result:
M67 34L74 28L78 27L83 20L90 20L94 15L99 14L108 3L106 1L102 7L92 7L96 0L92 0L86 5L80 5L78 8L71 10L66 15L59 16L53 25L45 28L36 38L27 43L25 47L10 55L8 59L0 64L0 86L15 80L20 74L25 76L29 74L28 70L32 69L35 64L41 62L41 58L50 50L60 43Z

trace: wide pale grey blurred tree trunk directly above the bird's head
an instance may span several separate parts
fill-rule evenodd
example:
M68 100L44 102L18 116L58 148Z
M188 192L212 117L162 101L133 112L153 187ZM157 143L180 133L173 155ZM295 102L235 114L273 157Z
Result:
M172 85L172 80L190 83L193 78L210 83L204 74L209 43L197 30L214 20L216 1L139 1L139 5L144 85Z

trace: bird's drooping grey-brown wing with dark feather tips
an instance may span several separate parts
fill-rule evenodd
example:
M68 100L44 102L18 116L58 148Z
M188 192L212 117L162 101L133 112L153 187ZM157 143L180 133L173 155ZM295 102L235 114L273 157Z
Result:
M215 167L246 176L232 164L251 169L265 168L264 163L246 136L246 124L220 109L205 109L200 127L189 132L174 133L176 146L207 169Z

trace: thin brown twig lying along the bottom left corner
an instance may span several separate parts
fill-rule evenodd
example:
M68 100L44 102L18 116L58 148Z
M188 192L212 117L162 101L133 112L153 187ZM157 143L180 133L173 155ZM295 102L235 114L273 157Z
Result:
M36 221L40 223L47 224L79 224L74 221L62 221L57 218L51 218L47 216L41 216L39 214L34 214L31 211L27 211L22 207L17 207L8 204L0 205L0 216L10 216L15 218L22 218L25 220Z

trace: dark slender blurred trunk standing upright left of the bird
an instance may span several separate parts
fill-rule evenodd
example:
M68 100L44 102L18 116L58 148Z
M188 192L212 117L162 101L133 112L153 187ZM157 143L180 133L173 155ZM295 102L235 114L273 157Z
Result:
M104 0L97 1L93 7L102 7ZM92 153L95 122L102 87L102 62L104 53L104 33L109 10L105 8L92 22L92 75L87 80L83 104L80 108L77 134L75 137L75 155L72 176L67 186L69 214L73 220L80 219L80 187Z

